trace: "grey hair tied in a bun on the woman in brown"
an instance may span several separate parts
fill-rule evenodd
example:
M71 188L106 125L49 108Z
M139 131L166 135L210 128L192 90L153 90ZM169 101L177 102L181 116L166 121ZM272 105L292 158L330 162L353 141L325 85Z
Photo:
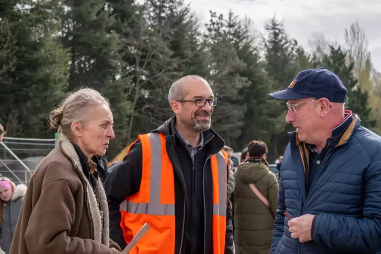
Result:
M69 94L63 103L50 113L50 126L58 128L70 141L74 140L71 124L83 123L94 106L105 105L111 113L109 101L98 91L83 87Z

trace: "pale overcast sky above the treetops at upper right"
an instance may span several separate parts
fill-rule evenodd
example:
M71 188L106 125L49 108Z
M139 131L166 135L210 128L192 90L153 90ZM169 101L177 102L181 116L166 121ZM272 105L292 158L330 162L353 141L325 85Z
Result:
M344 31L358 21L369 42L376 69L381 71L381 0L185 0L203 21L209 10L228 13L232 9L248 16L263 32L264 23L275 14L283 20L287 33L308 47L313 33L344 44Z

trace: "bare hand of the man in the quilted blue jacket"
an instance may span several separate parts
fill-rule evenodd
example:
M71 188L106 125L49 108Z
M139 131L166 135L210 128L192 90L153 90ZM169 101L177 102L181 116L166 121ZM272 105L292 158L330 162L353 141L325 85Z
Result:
M289 220L288 226L291 237L294 239L299 238L299 242L301 243L311 241L311 229L314 217L315 215L305 214Z

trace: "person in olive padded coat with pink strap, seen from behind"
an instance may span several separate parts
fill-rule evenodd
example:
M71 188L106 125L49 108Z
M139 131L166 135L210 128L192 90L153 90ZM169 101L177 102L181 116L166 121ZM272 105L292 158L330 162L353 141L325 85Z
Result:
M267 146L262 141L248 145L248 155L235 172L234 223L236 254L268 254L278 207L278 181L268 170ZM268 200L267 207L250 188L256 189Z

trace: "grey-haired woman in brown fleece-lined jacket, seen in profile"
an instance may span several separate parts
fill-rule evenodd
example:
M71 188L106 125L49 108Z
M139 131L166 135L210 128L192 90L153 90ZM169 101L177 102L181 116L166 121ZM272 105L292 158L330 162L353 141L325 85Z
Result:
M10 254L118 254L109 239L106 195L96 165L114 138L108 101L80 89L52 111L60 144L37 166L25 194Z

